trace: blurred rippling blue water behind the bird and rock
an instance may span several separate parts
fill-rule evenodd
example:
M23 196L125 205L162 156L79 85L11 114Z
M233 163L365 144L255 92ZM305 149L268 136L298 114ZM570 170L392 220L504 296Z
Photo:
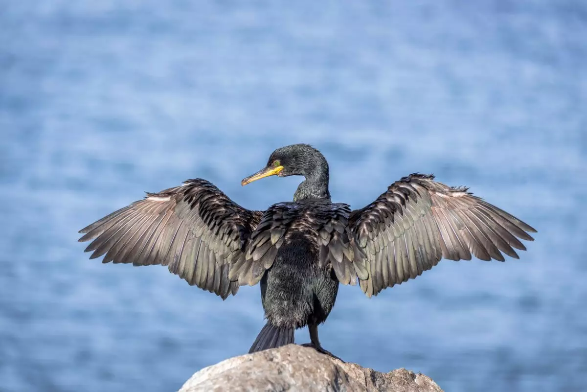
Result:
M0 390L174 391L247 352L258 287L89 261L77 231L187 178L291 200L299 178L239 181L304 142L335 201L434 173L539 231L519 261L342 287L327 349L451 392L584 391L586 37L579 0L2 1Z

